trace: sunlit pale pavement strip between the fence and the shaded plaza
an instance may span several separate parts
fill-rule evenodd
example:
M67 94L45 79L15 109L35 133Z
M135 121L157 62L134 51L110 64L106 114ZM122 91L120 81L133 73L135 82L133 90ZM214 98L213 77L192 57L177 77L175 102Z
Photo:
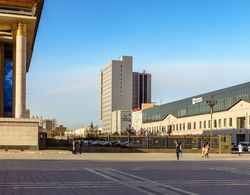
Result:
M19 151L0 150L0 159L47 159L47 160L86 160L86 161L173 161L175 153L82 153L73 155L65 150ZM250 161L250 153L238 156L237 154L210 154L210 158L201 158L198 153L184 153L182 161L220 161L241 160Z

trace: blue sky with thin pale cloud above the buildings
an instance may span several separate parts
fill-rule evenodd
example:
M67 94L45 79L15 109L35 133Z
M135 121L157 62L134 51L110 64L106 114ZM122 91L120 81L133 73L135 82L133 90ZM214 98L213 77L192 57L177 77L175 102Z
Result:
M134 57L167 103L249 81L248 0L46 0L27 74L31 115L101 124L99 74Z

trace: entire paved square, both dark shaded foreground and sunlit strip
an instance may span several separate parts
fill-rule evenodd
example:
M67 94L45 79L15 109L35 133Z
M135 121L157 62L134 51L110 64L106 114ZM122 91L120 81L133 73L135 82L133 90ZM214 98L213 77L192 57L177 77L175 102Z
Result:
M4 195L250 194L250 155L184 154L176 161L174 154L2 151L0 158Z

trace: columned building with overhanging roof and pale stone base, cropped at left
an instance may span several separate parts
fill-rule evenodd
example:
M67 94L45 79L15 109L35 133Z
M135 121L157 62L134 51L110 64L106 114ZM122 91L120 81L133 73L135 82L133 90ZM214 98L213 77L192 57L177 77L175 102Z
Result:
M37 137L30 139L37 136L38 122L26 119L26 73L43 3L43 0L0 0L0 131L4 135L8 132L14 140L11 143L10 137L2 136L0 145L37 147ZM25 133L26 130L29 132Z

